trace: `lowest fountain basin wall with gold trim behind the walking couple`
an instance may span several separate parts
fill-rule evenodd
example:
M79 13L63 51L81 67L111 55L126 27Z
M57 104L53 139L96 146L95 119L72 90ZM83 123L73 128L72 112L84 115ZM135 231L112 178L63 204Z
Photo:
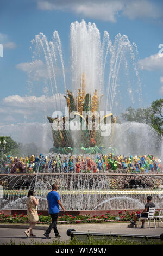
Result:
M51 190L35 190L35 197L39 198L38 210L47 210L47 193ZM156 209L163 208L163 190L59 190L60 200L65 209L83 214L97 210L104 213L119 209L142 209L147 196L153 197ZM4 190L1 199L1 210L26 210L28 190ZM133 211L133 210L132 210ZM47 213L46 213L47 214Z

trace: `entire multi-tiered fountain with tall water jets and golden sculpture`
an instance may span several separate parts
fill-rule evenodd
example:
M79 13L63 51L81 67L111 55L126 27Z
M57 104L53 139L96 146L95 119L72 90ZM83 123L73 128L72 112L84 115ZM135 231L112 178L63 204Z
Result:
M36 197L40 198L39 209L46 210L47 192L54 182L60 184L60 198L66 210L140 209L143 208L148 194L153 195L156 207L162 208L163 191L150 190L147 187L141 190L111 189L110 180L119 179L121 175L118 174L119 176L115 178L113 172L108 172L109 168L101 168L98 163L98 157L104 155L105 164L109 153L117 153L116 148L122 155L127 155L129 150L132 154L148 155L148 150L151 150L151 145L150 147L143 145L141 149L136 143L135 148L124 147L124 133L134 129L137 131L140 125L116 124L116 118L112 115L112 112L118 113L117 109L122 108L123 103L127 102L126 95L123 102L122 93L118 93L121 67L123 67L121 74L123 83L124 74L128 79L126 91L129 94L129 101L134 102L135 98L141 100L136 44L131 44L127 36L121 34L118 34L115 42L112 43L106 31L101 42L95 23L86 24L84 20L80 23L77 21L72 23L70 27L72 92L67 90L66 86L66 72L58 32L54 31L50 42L43 33L40 33L32 40L32 44L35 49L33 62L46 65L46 86L43 92L46 94L51 88L54 99L55 113L52 117L48 117L54 147L46 157L40 156L40 161L35 165L35 173L18 175L13 173L5 176L9 189L4 190L1 209L26 209L27 189L34 188ZM35 75L34 71L31 70L29 79ZM58 72L62 74L61 81ZM133 75L133 86L129 74ZM66 104L65 114L62 114ZM87 112L86 117L83 111ZM107 136L102 136L100 129L102 111L105 113L101 118L103 125L110 122ZM74 120L78 120L78 124L84 124L85 129L69 129L68 125ZM145 124L142 124L141 128L142 131L148 130L148 135L153 133ZM139 133L140 130L136 135ZM126 133L125 136L127 137ZM115 161L109 163L113 166L112 170L116 170L120 164L119 160ZM125 177L127 175L129 174L124 174ZM149 178L152 178L152 175L149 174ZM162 178L161 173L156 175L158 179ZM131 178L133 176L130 176ZM0 178L0 181L1 179L4 177Z

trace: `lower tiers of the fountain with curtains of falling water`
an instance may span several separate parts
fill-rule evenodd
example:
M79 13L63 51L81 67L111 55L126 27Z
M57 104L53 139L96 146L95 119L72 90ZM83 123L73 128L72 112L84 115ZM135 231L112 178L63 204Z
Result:
M94 169L95 166L90 165L90 162L96 163L96 157L96 154L77 156L49 153L46 162L45 156L41 156L35 172L4 174L2 178L0 176L0 182L5 179L7 184L1 199L1 209L26 209L28 189L34 188L35 196L40 198L38 209L46 210L47 193L51 190L51 185L56 182L60 184L60 198L67 210L140 209L148 194L152 194L156 207L162 208L163 191L153 189L154 187L151 186L147 187L149 179L152 182L154 179L162 179L160 172L154 174L110 172L105 169L105 162L101 170L97 169L96 164ZM73 166L70 166L70 163ZM143 179L144 182L139 180L136 180L137 183L130 182L126 189L126 182L135 181L135 177ZM116 187L115 183L118 180L120 182ZM135 185L131 188L133 184L139 184L139 188L135 189Z

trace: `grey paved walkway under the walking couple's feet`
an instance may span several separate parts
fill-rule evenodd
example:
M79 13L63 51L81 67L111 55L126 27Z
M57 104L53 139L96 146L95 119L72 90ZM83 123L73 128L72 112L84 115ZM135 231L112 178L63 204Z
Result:
M157 223L158 224L158 223ZM129 223L106 223L106 224L70 224L70 225L58 225L59 234L61 235L60 240L66 241L70 240L70 237L66 235L67 229L73 228L76 231L90 231L97 233L117 233L117 234L137 234L137 235L159 235L163 233L163 225L160 224L160 227L154 228L154 223L151 223L151 228L148 228L148 224L146 223L146 227L144 229L141 228L131 228ZM11 227L11 228L9 228ZM12 239L16 245L21 243L31 243L31 240L40 241L40 242L48 242L54 239L54 232L52 230L50 236L52 239L46 239L43 236L45 230L48 226L36 226L34 230L34 234L36 235L35 239L28 238L24 231L27 229L26 225L0 225L0 245L9 243Z

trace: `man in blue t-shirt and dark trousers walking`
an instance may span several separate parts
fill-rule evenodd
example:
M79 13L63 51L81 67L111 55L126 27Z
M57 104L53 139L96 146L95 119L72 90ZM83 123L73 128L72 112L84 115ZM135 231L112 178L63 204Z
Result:
M57 219L58 219L58 214L59 214L59 206L63 209L65 212L65 208L60 202L59 198L59 193L57 192L58 190L58 185L53 184L52 185L52 191L48 193L47 195L47 203L48 203L48 209L49 209L49 214L52 217L52 223L49 225L48 229L46 230L45 234L43 234L47 238L49 237L49 234L51 233L51 230L53 228L55 237L60 237L58 229L57 229Z

